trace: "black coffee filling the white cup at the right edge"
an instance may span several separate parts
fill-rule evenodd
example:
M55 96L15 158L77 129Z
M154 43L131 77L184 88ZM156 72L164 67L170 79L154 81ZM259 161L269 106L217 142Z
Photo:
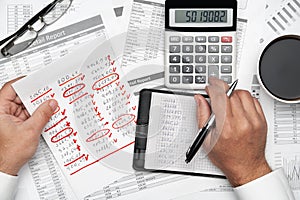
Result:
M265 88L279 99L300 100L300 37L284 36L271 42L259 63Z

